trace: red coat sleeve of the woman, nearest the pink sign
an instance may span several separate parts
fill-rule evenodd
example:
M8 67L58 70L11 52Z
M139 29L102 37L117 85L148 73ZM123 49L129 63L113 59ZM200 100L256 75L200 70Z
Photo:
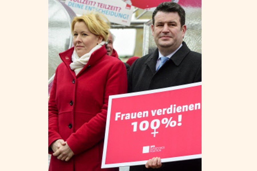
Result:
M74 154L79 154L104 139L109 95L122 93L127 93L127 70L123 62L117 60L107 74L101 112L88 123L84 123L67 139L67 144Z

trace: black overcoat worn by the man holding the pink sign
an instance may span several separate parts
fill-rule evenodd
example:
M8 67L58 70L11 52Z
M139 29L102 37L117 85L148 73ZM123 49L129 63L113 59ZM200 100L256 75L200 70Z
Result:
M128 73L128 92L178 86L202 81L202 54L191 51L185 42L182 43L182 47L156 72L155 68L158 56L158 49L156 49L153 53L137 59L132 64ZM144 165L130 166L130 171L202 170L201 159L182 160L162 164L162 167L159 169L146 169Z

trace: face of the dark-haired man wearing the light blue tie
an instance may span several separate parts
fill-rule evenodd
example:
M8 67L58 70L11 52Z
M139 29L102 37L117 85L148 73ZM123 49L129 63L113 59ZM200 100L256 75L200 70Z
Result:
M152 35L160 49L176 50L183 41L186 25L181 28L180 17L177 12L165 13L158 11L154 16L154 25L151 25Z

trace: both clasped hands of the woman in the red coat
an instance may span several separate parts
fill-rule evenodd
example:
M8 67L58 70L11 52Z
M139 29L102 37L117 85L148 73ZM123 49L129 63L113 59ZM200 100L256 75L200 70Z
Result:
M67 142L63 139L54 141L50 147L54 152L53 156L57 156L59 160L65 160L67 162L74 155Z

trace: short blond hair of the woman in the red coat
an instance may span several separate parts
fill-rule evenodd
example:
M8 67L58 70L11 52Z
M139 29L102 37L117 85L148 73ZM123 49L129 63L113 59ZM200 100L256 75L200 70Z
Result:
M105 15L98 12L91 12L79 17L74 17L71 22L71 32L73 33L75 23L84 22L89 31L97 36L102 36L103 41L108 40L109 29L111 26L110 21Z

